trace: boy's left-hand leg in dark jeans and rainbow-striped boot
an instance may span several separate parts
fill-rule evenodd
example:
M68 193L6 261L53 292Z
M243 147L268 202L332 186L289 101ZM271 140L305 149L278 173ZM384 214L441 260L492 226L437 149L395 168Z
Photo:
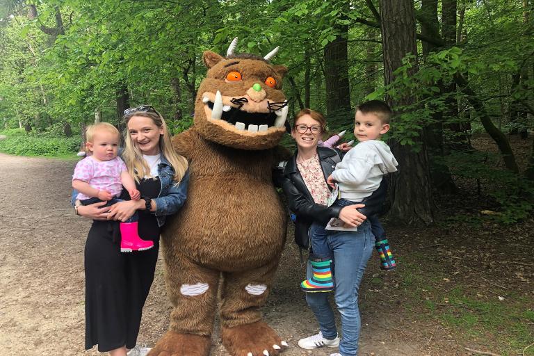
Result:
M300 288L306 292L328 292L334 290L332 280L332 251L328 246L325 228L316 223L309 229L309 239L312 252L309 263L312 265L313 275L309 280L302 281Z

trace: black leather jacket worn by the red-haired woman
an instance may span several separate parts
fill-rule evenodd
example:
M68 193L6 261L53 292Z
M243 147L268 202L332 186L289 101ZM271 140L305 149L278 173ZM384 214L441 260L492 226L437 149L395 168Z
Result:
M339 152L326 147L317 147L319 162L323 169L325 180L332 174L336 163L341 161ZM289 210L296 214L295 223L295 242L301 248L309 247L308 230L312 222L316 221L321 224L327 224L331 218L338 218L341 207L335 205L326 207L322 204L316 204L312 195L309 193L302 176L297 168L297 154L286 163L284 174L282 176L282 189L287 198ZM369 197L364 198L362 203L365 207L359 209L365 216L372 216L380 212L387 191L387 183L382 179L380 187Z

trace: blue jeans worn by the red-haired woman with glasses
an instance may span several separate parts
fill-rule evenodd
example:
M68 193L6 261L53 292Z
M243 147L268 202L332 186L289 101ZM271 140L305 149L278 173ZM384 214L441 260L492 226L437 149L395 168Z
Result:
M334 257L335 300L341 314L341 343L339 353L355 356L358 353L360 318L358 290L362 282L367 261L374 248L375 237L371 224L364 221L357 232L332 232L327 243ZM308 262L307 277L312 277L312 266ZM328 302L329 293L306 293L306 301L314 312L319 328L326 339L337 336L334 312Z

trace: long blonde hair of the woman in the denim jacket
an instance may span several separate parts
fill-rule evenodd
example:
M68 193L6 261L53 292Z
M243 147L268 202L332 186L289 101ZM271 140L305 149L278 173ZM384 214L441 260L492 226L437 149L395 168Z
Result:
M128 131L128 122L133 116L142 116L143 118L149 118L154 122L154 124L163 128L163 133L159 138L159 150L161 155L169 161L172 168L175 170L175 176L173 181L175 184L178 184L181 181L181 178L186 174L188 168L188 162L184 156L181 156L175 152L175 149L172 148L172 143L170 141L169 130L167 129L167 124L163 117L159 113L154 113L152 111L136 111L134 113L129 113L124 115L124 124L126 124L126 129L124 133L125 147L122 152L122 160L126 163L128 172L139 182L139 179L145 176L151 176L150 168L147 165L145 159L143 159L143 153L136 147L135 143L131 140L130 133Z

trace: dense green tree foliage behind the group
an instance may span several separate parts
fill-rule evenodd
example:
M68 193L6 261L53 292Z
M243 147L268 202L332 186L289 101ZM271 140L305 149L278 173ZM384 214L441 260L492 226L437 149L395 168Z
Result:
M289 67L290 110L325 112L331 131L350 128L364 98L412 97L396 108L390 138L428 149L435 188L453 191L451 161L470 157L475 132L495 140L512 175L533 179L532 152L518 165L505 136L533 127L533 1L414 1L419 53L403 54L387 86L380 6L387 1L1 0L0 120L33 132L36 147L38 137L74 135L76 151L95 113L120 126L124 108L152 104L178 133L192 122L202 51L224 53L238 36L241 52L281 46L274 62Z

